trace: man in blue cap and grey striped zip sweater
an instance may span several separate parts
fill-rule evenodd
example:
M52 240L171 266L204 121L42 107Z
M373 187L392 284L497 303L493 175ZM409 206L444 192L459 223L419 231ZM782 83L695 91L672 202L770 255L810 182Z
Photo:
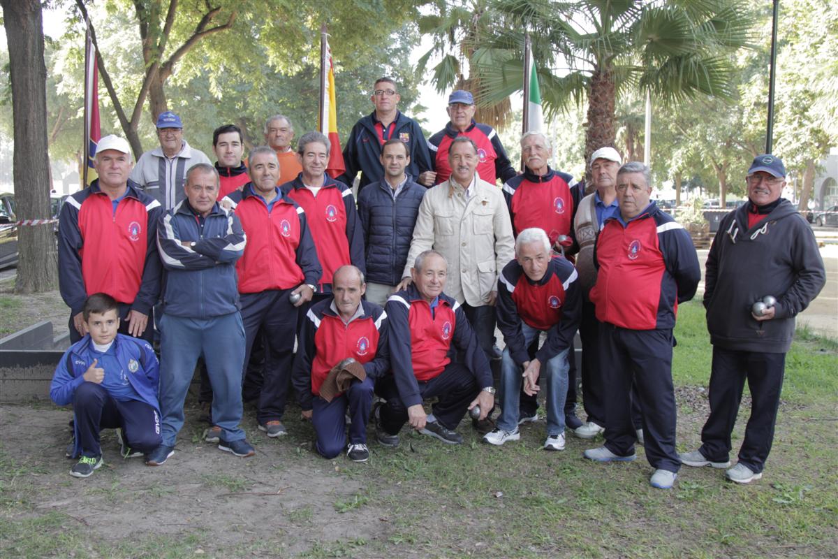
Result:
M189 168L212 163L204 152L189 147L184 140L184 123L172 111L160 113L157 131L160 147L137 159L131 179L168 211L186 197L184 184Z

